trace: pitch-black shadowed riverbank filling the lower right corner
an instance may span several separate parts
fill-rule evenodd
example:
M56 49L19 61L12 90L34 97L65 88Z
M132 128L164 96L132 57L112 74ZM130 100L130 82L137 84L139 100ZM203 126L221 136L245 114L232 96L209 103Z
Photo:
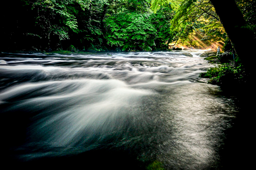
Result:
M248 85L236 93L238 96L236 102L241 110L233 120L233 127L225 132L226 139L220 150L219 169L251 169L253 167L255 99L251 90L253 90L252 85Z

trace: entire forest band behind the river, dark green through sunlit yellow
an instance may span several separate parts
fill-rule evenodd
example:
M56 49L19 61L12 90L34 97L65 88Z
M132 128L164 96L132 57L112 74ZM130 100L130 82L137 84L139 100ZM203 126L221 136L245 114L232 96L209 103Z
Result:
M168 45L222 47L229 37L227 28L223 28L225 19L219 18L214 3L230 12L226 3L214 0L8 1L1 10L0 50L95 52L166 50ZM255 33L255 1L236 3L246 22L242 26ZM234 17L232 22L239 22Z

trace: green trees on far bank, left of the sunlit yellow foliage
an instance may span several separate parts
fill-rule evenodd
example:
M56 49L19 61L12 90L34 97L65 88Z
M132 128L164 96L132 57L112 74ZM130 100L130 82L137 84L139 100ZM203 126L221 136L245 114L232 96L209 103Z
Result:
M169 4L150 0L16 0L1 9L1 51L160 50L170 39Z

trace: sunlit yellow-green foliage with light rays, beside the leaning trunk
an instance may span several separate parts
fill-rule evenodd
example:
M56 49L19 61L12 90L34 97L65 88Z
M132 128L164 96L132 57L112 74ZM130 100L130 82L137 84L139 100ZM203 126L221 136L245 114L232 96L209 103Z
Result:
M175 13L170 21L168 43L202 48L212 42L224 44L226 34L210 0L153 0L151 9L166 3Z

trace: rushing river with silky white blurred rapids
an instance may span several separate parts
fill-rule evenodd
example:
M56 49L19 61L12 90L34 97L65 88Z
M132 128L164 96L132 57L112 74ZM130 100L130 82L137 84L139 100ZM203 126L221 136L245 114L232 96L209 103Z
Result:
M212 67L203 52L1 54L7 161L94 169L143 169L154 161L174 170L218 167L238 108L219 86L198 82Z

